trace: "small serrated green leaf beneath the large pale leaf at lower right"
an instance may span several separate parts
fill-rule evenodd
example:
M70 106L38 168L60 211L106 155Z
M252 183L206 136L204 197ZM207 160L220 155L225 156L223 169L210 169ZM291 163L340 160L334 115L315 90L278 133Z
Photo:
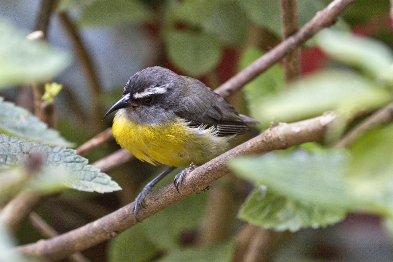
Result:
M239 210L239 218L276 231L320 228L340 222L345 211L324 208L287 197L254 190Z

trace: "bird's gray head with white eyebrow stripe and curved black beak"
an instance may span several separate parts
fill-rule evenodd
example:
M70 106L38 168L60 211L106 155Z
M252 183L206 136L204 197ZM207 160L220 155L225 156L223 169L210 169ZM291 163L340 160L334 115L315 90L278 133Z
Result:
M141 124L157 124L173 118L183 96L183 78L160 66L135 73L124 87L123 95L105 114L115 110Z

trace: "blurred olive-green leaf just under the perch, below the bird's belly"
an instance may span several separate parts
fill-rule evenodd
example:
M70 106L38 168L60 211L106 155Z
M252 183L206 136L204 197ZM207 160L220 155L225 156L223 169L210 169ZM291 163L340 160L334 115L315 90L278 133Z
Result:
M207 194L194 194L143 220L151 242L163 250L179 247L180 233L197 229L203 217Z

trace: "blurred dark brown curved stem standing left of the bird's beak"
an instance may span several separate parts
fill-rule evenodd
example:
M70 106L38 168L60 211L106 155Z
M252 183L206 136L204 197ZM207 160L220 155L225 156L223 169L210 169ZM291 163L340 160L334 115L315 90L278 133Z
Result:
M92 59L90 58L89 53L87 52L86 48L84 47L84 43L81 40L78 30L75 28L71 19L68 17L68 15L64 12L60 12L58 15L59 15L61 23L64 25L66 31L68 32L68 35L70 36L70 38L75 46L77 58L82 63L82 68L83 68L84 73L86 75L89 86L91 87L91 93L92 93L91 98L92 98L93 105L94 105L94 110L93 110L94 114L93 115L96 116L96 117L94 117L96 119L93 119L93 121L97 122L97 120L100 120L100 117L101 117L100 113L102 112L101 103L100 103L100 99L99 99L101 87L100 87L100 84L98 81L97 74L94 70ZM98 122L100 122L100 121L98 121Z

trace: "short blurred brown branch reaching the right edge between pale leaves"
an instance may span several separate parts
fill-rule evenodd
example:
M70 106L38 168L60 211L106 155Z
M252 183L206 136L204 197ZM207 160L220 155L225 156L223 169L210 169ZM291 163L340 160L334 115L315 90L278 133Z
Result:
M366 130L375 127L379 124L388 123L393 120L393 103L376 111L371 116L368 116L364 121L358 124L350 132L348 132L335 147L346 147L359 138Z

